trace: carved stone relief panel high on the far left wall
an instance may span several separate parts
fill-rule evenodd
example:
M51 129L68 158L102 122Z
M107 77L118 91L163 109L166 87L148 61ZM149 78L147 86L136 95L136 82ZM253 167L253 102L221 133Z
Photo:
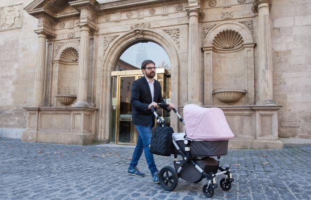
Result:
M0 31L22 27L21 4L0 8Z

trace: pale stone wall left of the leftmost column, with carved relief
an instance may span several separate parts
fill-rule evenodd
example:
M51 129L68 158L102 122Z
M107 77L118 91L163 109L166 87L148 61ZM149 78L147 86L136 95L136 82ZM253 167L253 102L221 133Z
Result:
M32 101L37 19L23 8L31 0L0 3L0 137L19 137L26 127L22 107Z

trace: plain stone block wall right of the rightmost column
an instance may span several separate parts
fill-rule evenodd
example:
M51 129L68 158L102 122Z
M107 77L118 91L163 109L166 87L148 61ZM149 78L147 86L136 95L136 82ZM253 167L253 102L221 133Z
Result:
M311 1L273 0L271 16L279 136L311 139Z

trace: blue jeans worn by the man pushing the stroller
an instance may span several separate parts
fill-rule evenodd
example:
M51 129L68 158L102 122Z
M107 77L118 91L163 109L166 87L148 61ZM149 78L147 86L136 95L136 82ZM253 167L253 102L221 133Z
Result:
M139 135L129 168L134 169L137 166L138 161L141 158L144 150L149 170L152 176L154 176L155 172L158 172L158 170L156 169L154 155L150 152L149 147L151 143L152 125L150 126L135 125L135 127Z

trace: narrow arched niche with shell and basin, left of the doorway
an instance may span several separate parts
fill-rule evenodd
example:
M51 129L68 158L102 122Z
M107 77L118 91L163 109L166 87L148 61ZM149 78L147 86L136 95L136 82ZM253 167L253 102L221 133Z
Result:
M55 53L52 75L52 106L70 106L74 103L78 86L79 43L67 42L60 45ZM66 99L66 102L62 102ZM71 99L69 102L68 99Z

